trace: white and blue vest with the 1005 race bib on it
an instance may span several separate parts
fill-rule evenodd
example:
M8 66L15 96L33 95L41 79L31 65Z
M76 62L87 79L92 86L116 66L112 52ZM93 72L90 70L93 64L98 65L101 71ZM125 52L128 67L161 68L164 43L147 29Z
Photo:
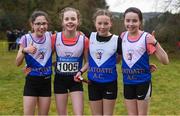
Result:
M85 36L79 35L74 45L63 43L62 32L58 32L56 36L55 72L63 76L74 76L82 68Z

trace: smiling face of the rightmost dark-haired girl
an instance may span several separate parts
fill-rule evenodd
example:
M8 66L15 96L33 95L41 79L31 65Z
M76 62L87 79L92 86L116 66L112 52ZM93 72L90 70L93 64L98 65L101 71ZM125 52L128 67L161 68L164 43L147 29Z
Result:
M138 30L141 26L141 21L138 14L134 12L126 13L124 17L124 25L126 30L129 31L130 34L138 33Z

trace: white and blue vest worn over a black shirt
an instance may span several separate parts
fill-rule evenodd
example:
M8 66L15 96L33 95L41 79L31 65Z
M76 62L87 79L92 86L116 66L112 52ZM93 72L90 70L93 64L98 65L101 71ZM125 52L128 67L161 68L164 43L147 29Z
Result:
M118 36L113 35L108 42L98 42L96 36L97 32L92 32L90 35L88 79L99 83L117 80Z

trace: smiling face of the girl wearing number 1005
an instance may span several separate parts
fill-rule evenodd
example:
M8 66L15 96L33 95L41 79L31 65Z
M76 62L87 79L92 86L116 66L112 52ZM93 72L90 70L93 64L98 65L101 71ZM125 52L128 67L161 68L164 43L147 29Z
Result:
M75 11L64 12L62 26L65 31L76 31L79 26L79 19Z

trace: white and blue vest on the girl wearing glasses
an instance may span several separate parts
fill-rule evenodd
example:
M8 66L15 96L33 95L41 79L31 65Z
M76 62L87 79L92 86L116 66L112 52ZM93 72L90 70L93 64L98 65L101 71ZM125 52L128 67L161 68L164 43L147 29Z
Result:
M31 67L30 76L48 76L52 74L52 46L51 33L44 34L44 41L37 43L31 34L25 35L26 47L33 43L37 51L35 54L25 54L27 67Z

